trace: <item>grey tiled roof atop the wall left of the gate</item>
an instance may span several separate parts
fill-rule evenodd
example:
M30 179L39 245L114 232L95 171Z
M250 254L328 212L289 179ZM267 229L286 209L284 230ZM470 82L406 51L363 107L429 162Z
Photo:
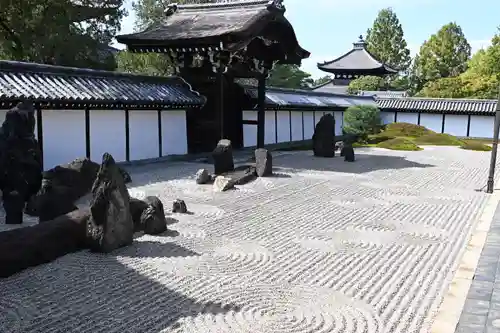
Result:
M151 77L90 69L0 61L0 102L161 108L199 106L205 98L177 77Z

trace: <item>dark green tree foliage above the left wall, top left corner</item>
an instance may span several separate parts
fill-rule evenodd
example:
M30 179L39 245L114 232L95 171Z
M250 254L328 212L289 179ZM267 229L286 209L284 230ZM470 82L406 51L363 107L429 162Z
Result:
M5 59L114 69L105 47L120 28L123 0L0 0Z

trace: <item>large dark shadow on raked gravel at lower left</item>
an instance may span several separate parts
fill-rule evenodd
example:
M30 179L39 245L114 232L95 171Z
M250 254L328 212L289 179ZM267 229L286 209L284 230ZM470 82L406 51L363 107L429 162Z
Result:
M180 247L160 250L156 244L138 244L142 249L137 248L137 253L147 252L145 249L161 252L155 256L169 251L170 256L192 253ZM0 312L6 317L0 321L0 332L160 332L179 328L182 318L241 309L205 296L216 295L216 279L200 283L199 277L181 278L145 264L144 270L161 279L160 283L119 262L115 257L122 255L119 252L106 255L106 260L84 256L79 264L65 266L64 262L76 260L69 255L62 258L63 263L49 263L3 280ZM180 288L195 290L198 297L175 290ZM36 312L25 311L31 308Z

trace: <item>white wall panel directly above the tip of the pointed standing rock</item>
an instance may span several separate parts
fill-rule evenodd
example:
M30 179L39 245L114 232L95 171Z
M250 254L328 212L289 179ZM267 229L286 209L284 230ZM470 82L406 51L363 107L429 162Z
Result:
M43 132L45 138L47 133L45 128ZM101 163L102 155L106 152L117 162L126 159L125 111L90 110L90 159Z

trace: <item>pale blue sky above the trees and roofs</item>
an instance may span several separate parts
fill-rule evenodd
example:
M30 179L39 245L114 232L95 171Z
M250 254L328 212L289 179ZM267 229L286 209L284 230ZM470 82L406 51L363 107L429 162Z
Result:
M300 45L311 52L302 69L314 78L327 75L318 62L333 60L365 35L379 10L391 7L397 14L412 54L416 54L443 25L456 22L475 52L487 47L500 26L499 0L284 0L285 16L292 23ZM129 15L120 33L134 31L132 0L124 4ZM115 44L123 48L121 44Z

